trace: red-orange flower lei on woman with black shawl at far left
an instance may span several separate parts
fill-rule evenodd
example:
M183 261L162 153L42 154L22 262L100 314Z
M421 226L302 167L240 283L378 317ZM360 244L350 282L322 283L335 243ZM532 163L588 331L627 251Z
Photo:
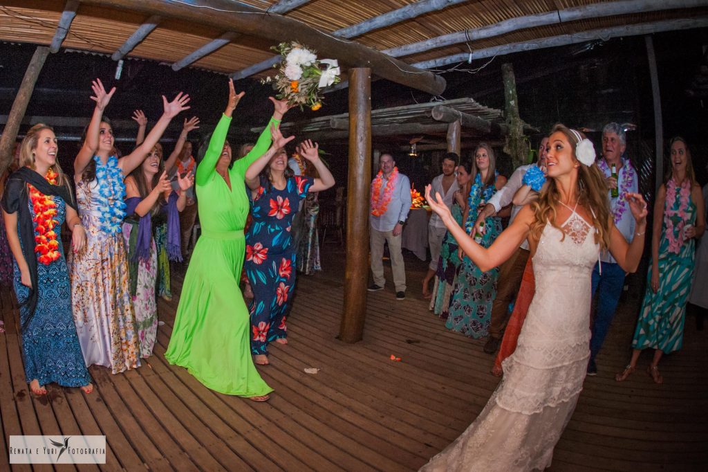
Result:
M57 184L57 173L49 169L45 178L50 184ZM57 232L55 227L59 226L59 221L54 217L57 215L57 203L52 196L47 196L28 184L30 189L30 199L32 208L35 213L33 221L37 223L35 226L35 252L38 254L38 261L45 266L55 262L61 254L59 254L59 241L57 241Z

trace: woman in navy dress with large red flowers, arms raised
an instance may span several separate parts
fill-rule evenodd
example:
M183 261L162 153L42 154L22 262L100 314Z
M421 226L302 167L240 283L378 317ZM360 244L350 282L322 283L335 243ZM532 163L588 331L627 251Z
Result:
M319 172L319 179L293 176L282 147L271 147L246 171L253 221L246 233L244 268L253 290L251 353L253 361L261 365L268 364L269 342L287 344L285 314L295 286L297 249L290 235L292 217L308 191L323 191L334 185L332 174L319 159L319 146L307 140L300 147L302 157Z

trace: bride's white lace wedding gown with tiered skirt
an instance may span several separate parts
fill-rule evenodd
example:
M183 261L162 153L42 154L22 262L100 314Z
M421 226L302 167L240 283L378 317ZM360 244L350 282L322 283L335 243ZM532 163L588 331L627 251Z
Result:
M590 356L594 231L575 213L548 224L533 257L536 293L516 351L484 410L425 472L531 471L551 465L573 415ZM565 238L562 237L565 233Z

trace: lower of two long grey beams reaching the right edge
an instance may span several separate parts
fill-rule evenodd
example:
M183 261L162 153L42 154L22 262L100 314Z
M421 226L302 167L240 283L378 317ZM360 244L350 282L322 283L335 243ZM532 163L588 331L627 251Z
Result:
M471 54L462 52L445 57L438 57L429 61L416 62L415 67L421 69L433 69L442 67L456 62L468 61L469 57L472 60L484 59L485 57L501 56L511 54L513 52L531 51L543 49L544 47L557 47L577 43L586 43L593 40L607 40L609 38L617 38L619 36L636 36L649 35L652 33L661 33L663 31L687 30L691 28L706 28L708 26L708 16L698 16L696 18L681 18L678 20L664 20L653 23L640 23L638 25L616 26L614 28L600 28L597 30L583 31L581 33L573 33L569 35L551 36L549 38L538 38L525 43L513 43L501 46L486 47L476 50Z

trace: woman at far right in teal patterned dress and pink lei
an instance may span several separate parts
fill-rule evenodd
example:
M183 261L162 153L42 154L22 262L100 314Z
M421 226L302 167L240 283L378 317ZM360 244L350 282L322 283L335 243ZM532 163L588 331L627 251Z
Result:
M615 380L624 381L636 368L641 351L654 349L647 369L663 383L658 362L665 353L681 349L686 301L691 291L695 240L705 230L704 201L691 154L682 137L671 140L671 172L656 196L651 266L646 293L632 339L632 359ZM661 277L659 277L661 274Z

